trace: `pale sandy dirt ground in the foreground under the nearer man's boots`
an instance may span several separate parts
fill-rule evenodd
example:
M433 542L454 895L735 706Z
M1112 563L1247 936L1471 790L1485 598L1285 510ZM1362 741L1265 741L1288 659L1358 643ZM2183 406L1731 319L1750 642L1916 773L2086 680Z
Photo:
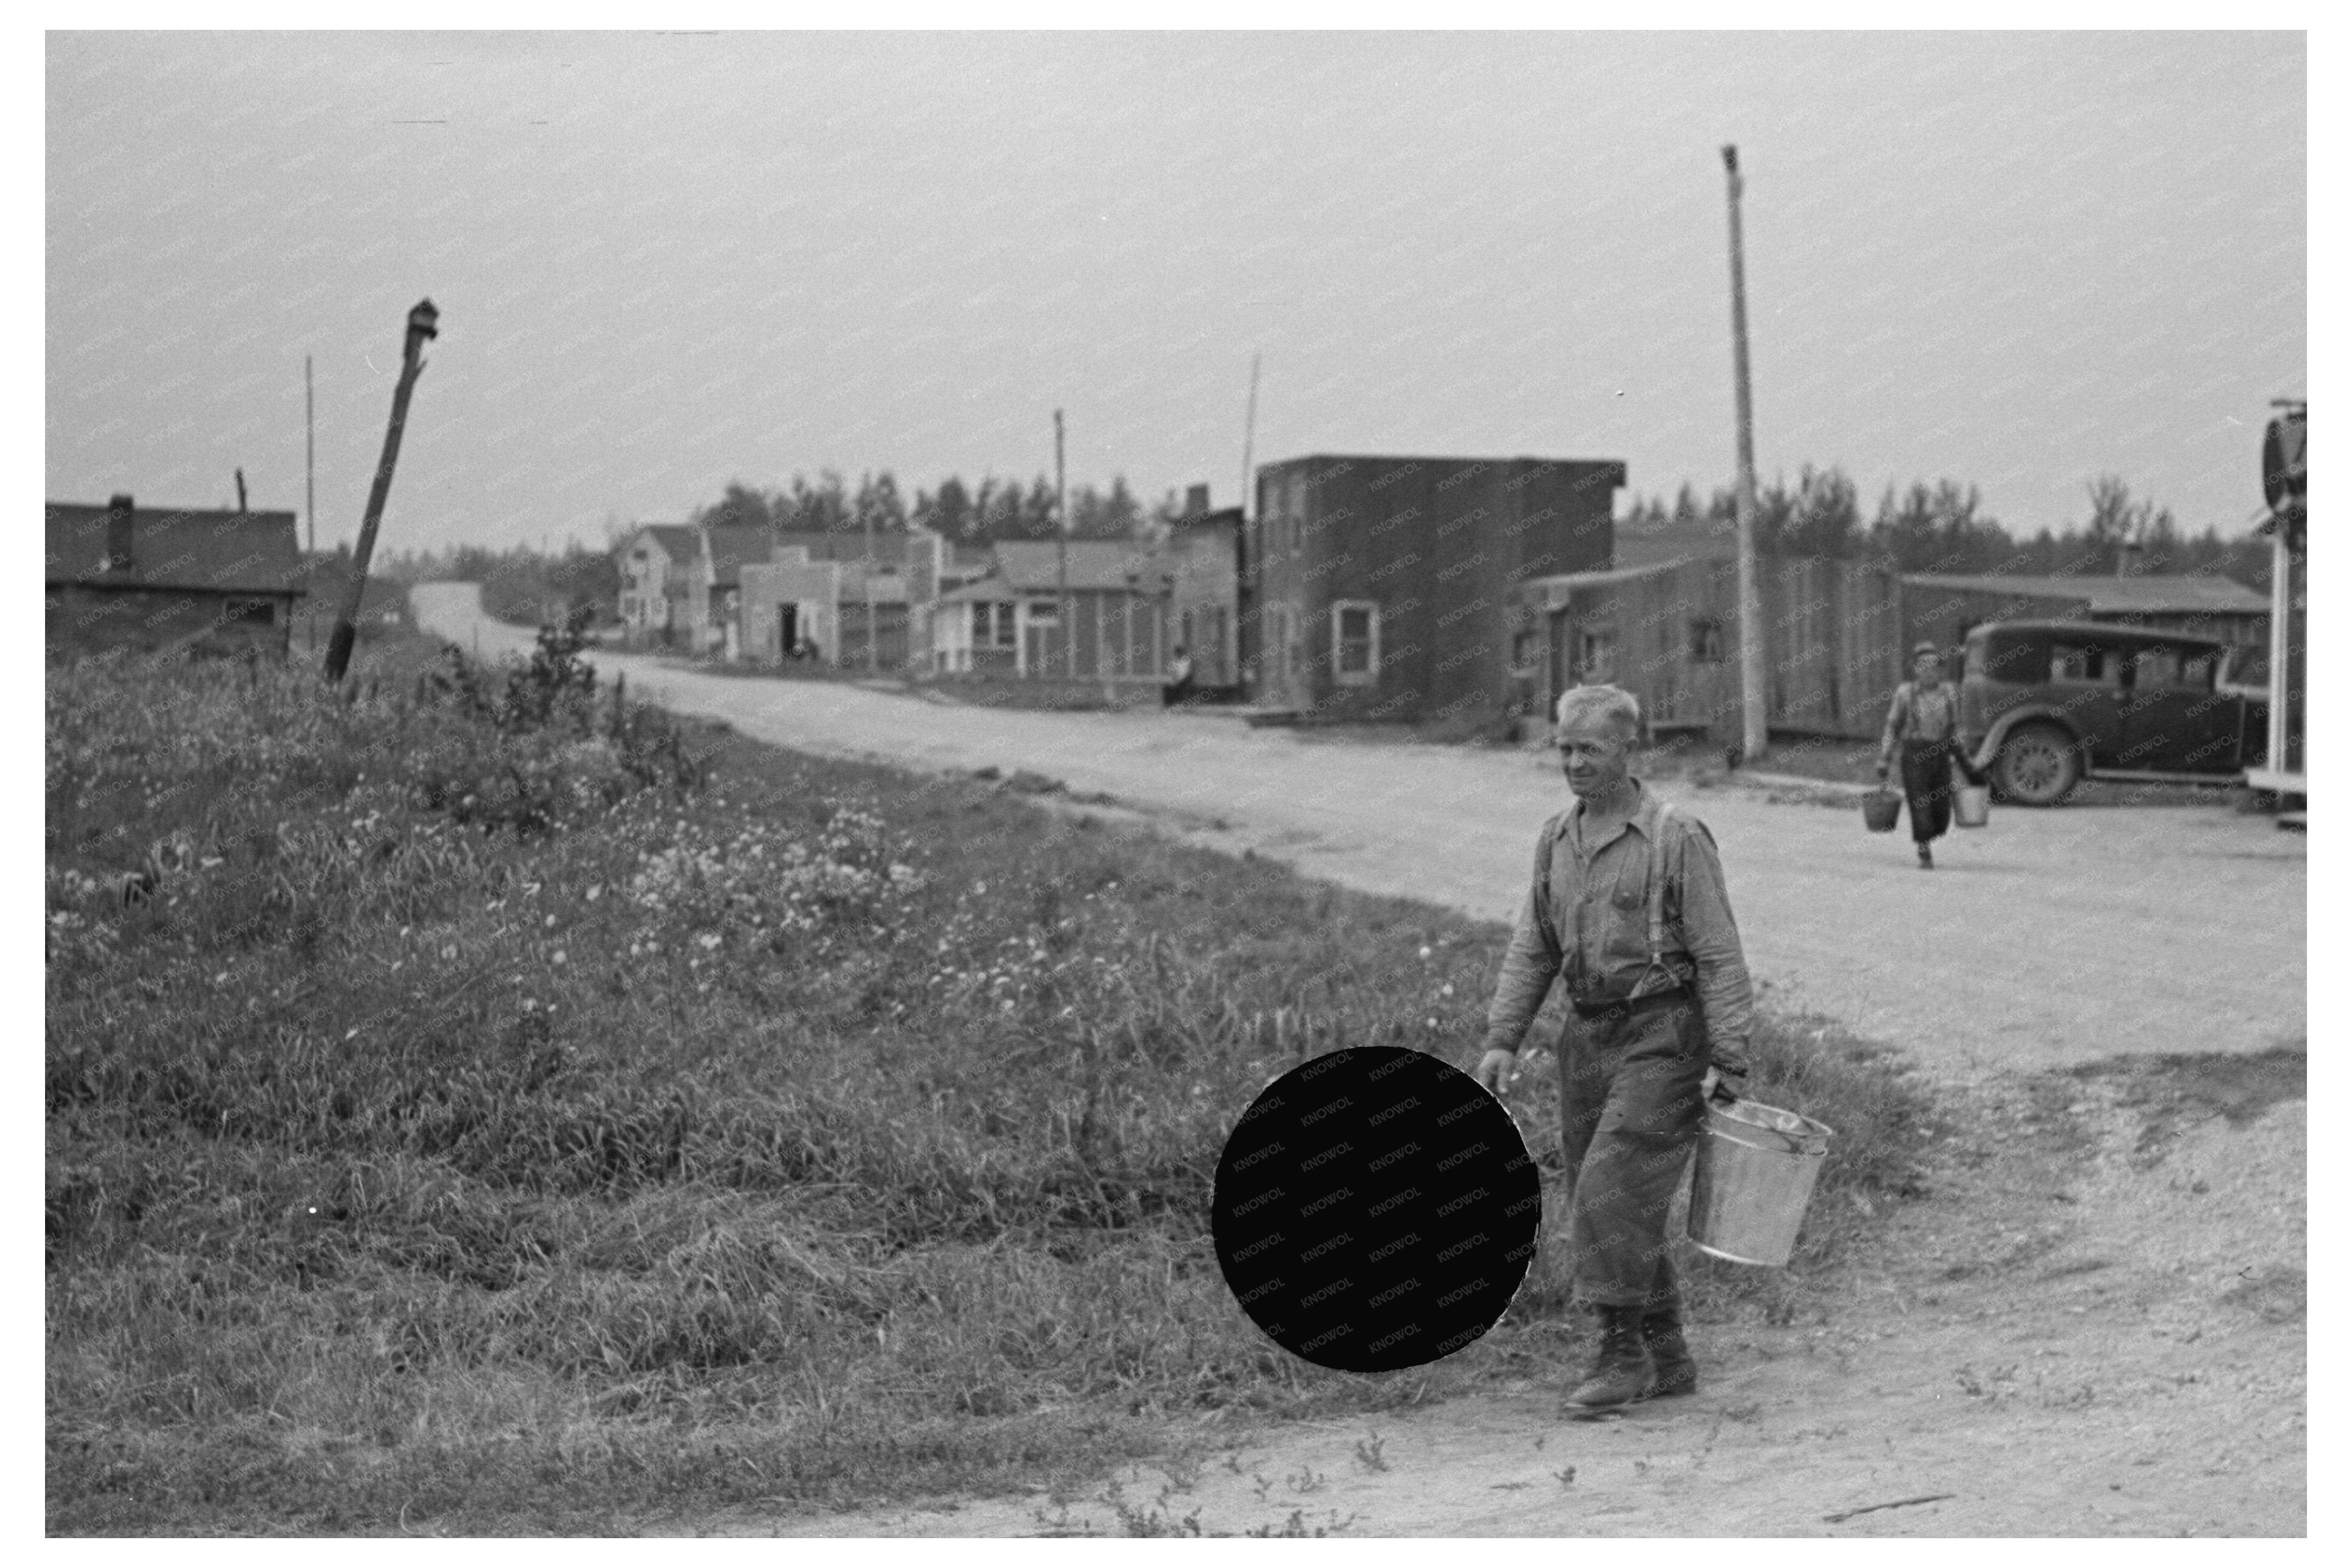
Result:
M1844 1309L1698 1331L1693 1399L1562 1422L1559 1380L1531 1380L1171 1427L1176 1458L1084 1495L652 1533L2300 1535L2303 1103L2154 1140L2112 1079L1983 1110L1896 1262L1844 1281Z

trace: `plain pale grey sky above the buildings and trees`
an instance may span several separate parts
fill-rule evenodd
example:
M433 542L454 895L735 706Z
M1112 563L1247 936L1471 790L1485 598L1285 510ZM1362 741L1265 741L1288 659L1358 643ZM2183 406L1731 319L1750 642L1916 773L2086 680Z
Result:
M677 522L729 480L1317 451L1764 482L2122 475L2260 512L2305 393L2300 33L49 33L47 494L379 550ZM1623 498L1621 498L1623 508Z

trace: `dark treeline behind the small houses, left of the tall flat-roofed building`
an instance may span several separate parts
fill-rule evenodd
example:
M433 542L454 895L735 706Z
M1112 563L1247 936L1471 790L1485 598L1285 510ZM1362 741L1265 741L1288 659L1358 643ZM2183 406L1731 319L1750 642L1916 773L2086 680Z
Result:
M1070 534L1075 538L1152 538L1167 531L1178 515L1176 491L1145 508L1127 487L1127 477L1112 477L1110 489L1077 484L1070 489ZM1033 482L997 480L981 475L978 484L964 484L948 475L938 489L917 489L913 498L884 468L868 473L851 491L835 470L821 470L811 484L807 475L779 489L755 489L741 480L727 491L696 508L689 522L753 524L771 529L807 529L818 534L863 531L868 524L877 534L903 534L908 527L924 527L960 545L985 545L1000 538L1054 538L1054 482L1037 475Z

